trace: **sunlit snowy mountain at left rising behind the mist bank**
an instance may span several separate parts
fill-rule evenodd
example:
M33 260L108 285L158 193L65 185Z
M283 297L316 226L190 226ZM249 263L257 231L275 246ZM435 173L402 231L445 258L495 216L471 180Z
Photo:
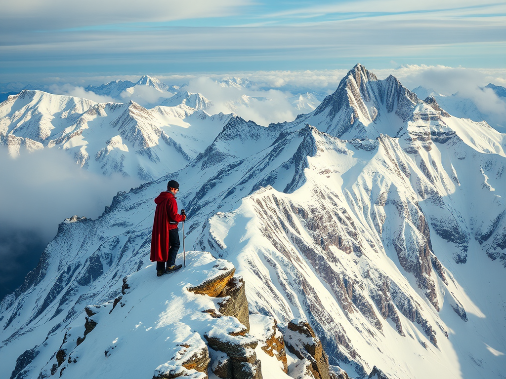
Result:
M57 148L93 172L146 181L188 164L229 117L184 105L148 110L22 91L0 105L0 141L13 156L21 147Z

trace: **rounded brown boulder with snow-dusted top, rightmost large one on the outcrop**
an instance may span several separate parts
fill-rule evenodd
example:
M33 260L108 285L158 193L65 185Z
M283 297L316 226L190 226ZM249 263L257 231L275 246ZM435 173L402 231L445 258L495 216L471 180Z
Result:
M293 319L283 330L286 348L300 359L311 362L308 366L315 379L329 379L328 357L320 339L307 321Z

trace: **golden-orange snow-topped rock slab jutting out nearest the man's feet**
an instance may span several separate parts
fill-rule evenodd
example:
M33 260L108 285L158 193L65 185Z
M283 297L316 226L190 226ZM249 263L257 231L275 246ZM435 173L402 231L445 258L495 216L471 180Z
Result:
M190 284L187 288L188 291L210 297L217 297L223 291L234 276L235 267L224 259L217 259L212 263L213 265L208 268L202 267L202 270L206 271L208 279L197 285Z

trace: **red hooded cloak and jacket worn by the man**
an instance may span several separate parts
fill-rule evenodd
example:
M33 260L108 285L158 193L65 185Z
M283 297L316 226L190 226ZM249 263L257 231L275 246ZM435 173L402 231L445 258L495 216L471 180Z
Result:
M162 192L155 199L156 210L151 232L151 262L166 262L168 260L168 231L176 229L178 222L185 219L178 214L176 197L170 192ZM171 221L173 223L171 223Z

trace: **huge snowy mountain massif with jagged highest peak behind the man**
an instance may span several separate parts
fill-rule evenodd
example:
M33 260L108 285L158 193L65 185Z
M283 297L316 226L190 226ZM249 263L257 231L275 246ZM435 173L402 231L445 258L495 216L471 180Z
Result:
M25 369L37 376L86 305L107 306L122 277L149 266L152 199L175 179L187 249L233 263L250 314L281 329L307 320L350 377L501 377L504 134L357 65L312 113L267 128L231 117L209 142L185 168L118 194L99 219L60 225L1 304L7 375L35 345Z

